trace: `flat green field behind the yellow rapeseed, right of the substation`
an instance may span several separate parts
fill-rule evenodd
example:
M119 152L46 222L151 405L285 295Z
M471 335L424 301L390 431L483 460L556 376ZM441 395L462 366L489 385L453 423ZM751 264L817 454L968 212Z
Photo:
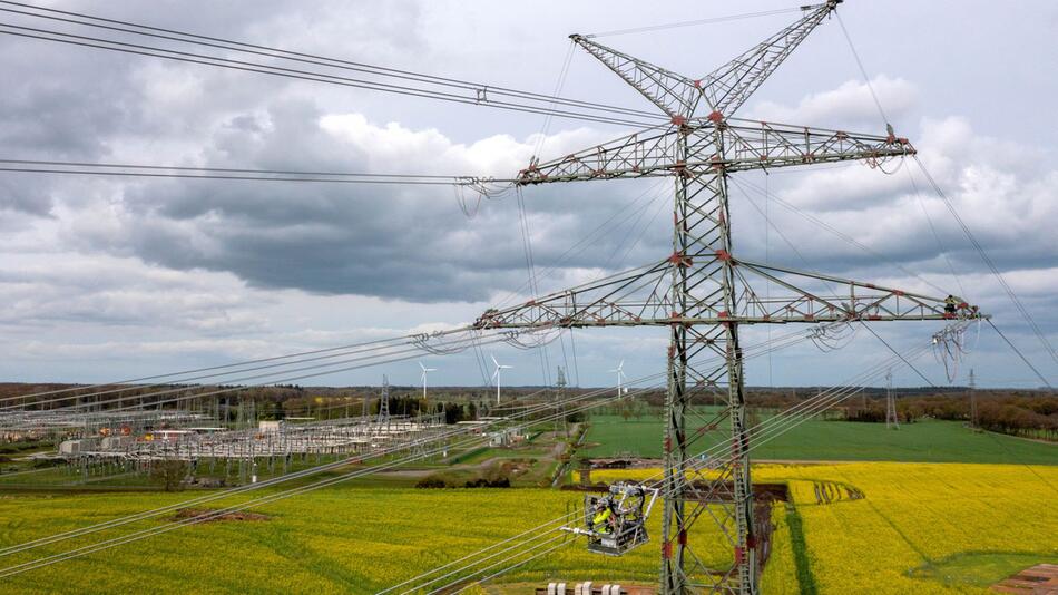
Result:
M619 416L592 416L584 457L633 453L662 456L664 421L648 416L624 420ZM706 435L694 450L701 451L726 436L726 427ZM919 421L889 430L882 423L810 420L754 452L776 460L890 460L915 462L992 462L1058 465L1058 445L1033 442L1010 436L976 432L956 421Z

